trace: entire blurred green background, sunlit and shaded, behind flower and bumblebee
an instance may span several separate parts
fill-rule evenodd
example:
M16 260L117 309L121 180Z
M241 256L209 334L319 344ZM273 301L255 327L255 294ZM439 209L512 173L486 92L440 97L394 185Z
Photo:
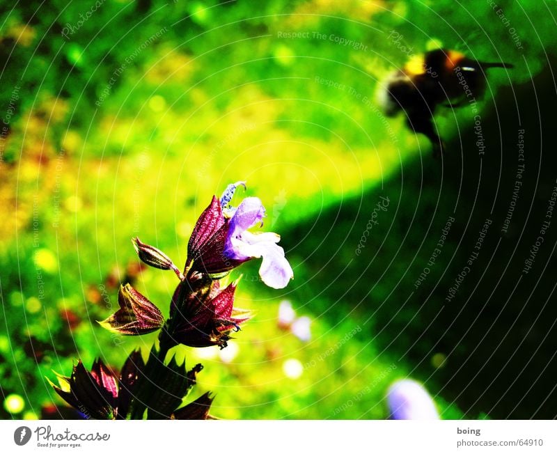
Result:
M3 2L0 388L12 404L0 418L55 416L45 377L77 358L118 369L148 351L156 334L95 322L125 281L168 313L175 276L141 269L130 238L183 263L198 215L237 180L262 199L295 280L268 289L244 265L237 306L256 318L220 356L178 352L205 365L190 397L214 391L212 414L386 418L386 389L413 377L443 418L554 418L556 226L521 270L557 176L557 8L494 3ZM440 45L515 64L489 73L478 104L485 155L469 109L437 116L448 153L435 161L375 102L393 68ZM524 185L503 233L519 129ZM381 196L389 207L356 255ZM311 318L311 340L278 327L283 300Z

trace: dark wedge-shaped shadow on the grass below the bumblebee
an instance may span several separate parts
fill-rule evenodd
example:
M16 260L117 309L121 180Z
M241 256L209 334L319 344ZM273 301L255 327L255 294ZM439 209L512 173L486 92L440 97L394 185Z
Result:
M297 304L331 324L347 313L365 322L380 348L471 418L483 412L556 417L557 213L546 214L557 186L557 96L549 69L514 90L504 88L496 104L483 104L485 155L476 144L473 114L464 114L444 162L425 150L422 159L404 162L384 189L345 199L281 231L290 257L304 261L290 288ZM524 162L518 159L519 130ZM389 197L389 208L373 216L380 196ZM439 247L450 217L455 221ZM543 244L526 274L525 260L540 235ZM434 366L434 354L446 355L444 366Z

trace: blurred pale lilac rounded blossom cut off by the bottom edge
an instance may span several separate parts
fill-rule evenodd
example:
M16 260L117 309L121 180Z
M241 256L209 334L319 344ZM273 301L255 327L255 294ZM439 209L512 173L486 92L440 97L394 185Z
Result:
M439 419L439 413L425 388L411 379L395 382L387 391L393 419Z

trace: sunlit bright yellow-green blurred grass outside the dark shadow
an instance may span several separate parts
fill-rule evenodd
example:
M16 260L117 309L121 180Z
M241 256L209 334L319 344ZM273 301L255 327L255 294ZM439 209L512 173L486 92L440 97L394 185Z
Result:
M437 39L480 58L524 65L508 36L496 48L482 42L482 26L489 24L478 24L450 1L434 7L411 1L119 1L104 3L65 39L63 28L75 26L88 7L51 3L48 11L33 1L13 10L3 6L0 16L1 79L8 87L3 105L10 87L22 87L0 169L2 392L21 394L26 410L39 415L42 405L60 403L45 382L52 370L68 374L75 358L90 364L97 356L118 368L134 346L148 350L155 335L115 339L95 323L116 305L107 276L125 279L128 264L136 263L134 235L182 263L194 221L212 194L246 180L246 194L267 207L267 228L292 245L287 253L299 298L292 303L313 318L313 340L304 345L276 327L278 302L292 298L290 290L261 290L250 281L256 267L248 266L238 306L257 317L238 334L233 363L206 354L199 359L205 370L196 393L215 391L213 413L224 418L386 417L387 386L413 365L398 361L395 347L376 345L369 336L373 320L363 314L335 305L322 315L329 299L313 292L331 276L320 268L321 257L298 253L296 241L327 235L324 226L311 230L312 219L347 200L361 203L361 194L384 187L420 147L428 154L427 143L409 134L402 118L384 123L373 101L377 81L407 58L386 40L391 29L416 49ZM534 1L505 5L516 22L540 9ZM439 15L448 20L442 27ZM283 31L311 38L278 38ZM315 39L314 31L367 47ZM137 52L156 33L162 35ZM552 36L550 29L538 33L543 45L534 29L521 28L533 56L527 74L542 69L531 61ZM513 77L524 78L526 71L519 68ZM509 83L503 75L493 81L493 88ZM450 118L443 122L455 129ZM310 230L297 232L299 225ZM348 232L354 228L352 222ZM300 236L288 240L289 232ZM343 238L329 241L336 246ZM353 247L341 245L340 256L348 260ZM307 288L304 281L313 283ZM173 276L148 270L137 285L168 311ZM342 298L345 289L338 290ZM81 320L71 329L62 316L66 309ZM330 349L334 354L304 368L299 379L285 377L286 359L305 365ZM190 365L203 355L185 348L180 354ZM461 416L441 396L436 401L444 417ZM0 416L10 417L4 409Z

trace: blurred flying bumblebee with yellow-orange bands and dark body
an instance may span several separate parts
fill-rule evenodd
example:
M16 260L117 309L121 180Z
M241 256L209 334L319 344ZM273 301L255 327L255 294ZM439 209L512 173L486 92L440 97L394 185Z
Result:
M387 80L379 103L387 116L404 111L408 127L427 136L439 157L444 144L434 127L435 109L462 107L485 91L485 70L512 68L510 63L486 63L448 49L436 49L411 58Z

